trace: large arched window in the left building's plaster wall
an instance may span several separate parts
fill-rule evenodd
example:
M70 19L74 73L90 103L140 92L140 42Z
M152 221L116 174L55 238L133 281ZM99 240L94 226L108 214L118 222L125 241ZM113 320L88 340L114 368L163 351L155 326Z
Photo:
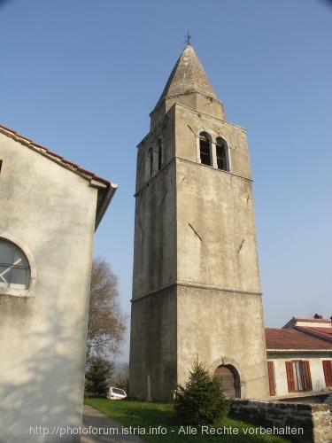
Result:
M30 266L17 245L0 238L0 287L27 289Z

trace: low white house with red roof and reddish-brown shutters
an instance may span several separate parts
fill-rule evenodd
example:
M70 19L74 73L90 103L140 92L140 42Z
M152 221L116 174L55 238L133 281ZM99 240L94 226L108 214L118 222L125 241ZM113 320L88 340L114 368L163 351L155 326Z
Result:
M282 329L266 328L266 354L274 398L320 396L332 389L331 320L293 317Z

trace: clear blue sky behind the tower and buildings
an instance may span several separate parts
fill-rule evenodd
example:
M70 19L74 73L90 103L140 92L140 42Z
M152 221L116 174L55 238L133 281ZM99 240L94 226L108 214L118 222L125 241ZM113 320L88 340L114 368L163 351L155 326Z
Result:
M332 6L324 0L7 0L0 121L120 183L95 254L130 312L135 146L193 35L247 128L265 323L332 315ZM128 359L128 340L119 360Z

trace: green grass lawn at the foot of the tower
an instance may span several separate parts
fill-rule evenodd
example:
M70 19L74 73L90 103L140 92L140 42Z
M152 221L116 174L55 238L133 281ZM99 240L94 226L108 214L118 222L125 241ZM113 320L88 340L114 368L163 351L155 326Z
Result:
M220 428L221 431L223 431L221 435L202 434L202 430L206 428L199 426L191 426L191 429L197 429L196 435L185 434L181 432L181 424L177 423L173 405L169 403L147 403L145 401L134 400L112 401L107 399L86 399L84 403L92 406L92 408L98 409L105 416L112 417L113 420L127 428L131 426L132 429L139 428L141 431L144 429L145 434L138 434L138 432L135 431L135 435L151 443L186 443L189 441L193 443L212 443L217 441L222 441L223 443L253 443L256 441L286 443L290 441L288 439L282 439L282 437L277 435L260 435L259 433L251 435L252 431L250 430L255 431L259 426L235 420L234 418L225 418L213 427L214 429ZM157 433L158 426L166 430L166 433L161 434L161 431ZM155 430L153 434L151 434L152 428ZM183 426L183 428L186 430L187 427ZM228 432L231 429L232 433L224 432L225 428L228 429ZM235 434L235 430L238 430L237 434Z

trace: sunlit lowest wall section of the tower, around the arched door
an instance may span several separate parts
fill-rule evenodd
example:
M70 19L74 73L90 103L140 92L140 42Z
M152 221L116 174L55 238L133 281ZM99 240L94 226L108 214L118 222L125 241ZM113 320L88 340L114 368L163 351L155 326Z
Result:
M244 310L259 316L245 316ZM259 295L179 286L177 316L178 383L187 381L198 356L212 373L219 365L232 365L241 398L267 398Z

